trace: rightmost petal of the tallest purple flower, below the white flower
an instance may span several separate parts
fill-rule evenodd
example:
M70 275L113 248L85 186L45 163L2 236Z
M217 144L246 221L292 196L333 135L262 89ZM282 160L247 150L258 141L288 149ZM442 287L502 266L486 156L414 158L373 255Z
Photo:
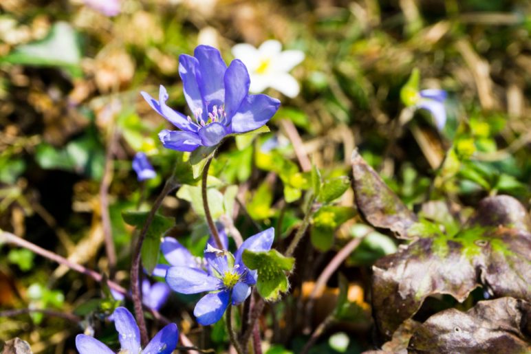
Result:
M232 116L232 133L245 133L259 129L267 123L279 109L280 101L266 95L249 95Z

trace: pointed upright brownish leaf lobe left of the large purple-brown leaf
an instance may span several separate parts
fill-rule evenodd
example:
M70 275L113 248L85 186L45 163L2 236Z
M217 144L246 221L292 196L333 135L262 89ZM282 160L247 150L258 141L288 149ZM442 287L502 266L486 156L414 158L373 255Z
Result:
M352 153L351 164L356 205L365 219L376 228L395 232L399 239L411 239L407 229L417 221L415 214L356 150Z

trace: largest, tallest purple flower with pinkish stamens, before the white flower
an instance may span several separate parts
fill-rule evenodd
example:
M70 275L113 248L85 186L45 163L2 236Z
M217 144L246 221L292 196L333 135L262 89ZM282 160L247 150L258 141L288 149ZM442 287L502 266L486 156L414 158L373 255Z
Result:
M159 100L141 92L151 108L180 129L159 133L166 148L194 151L199 146L215 146L228 134L259 129L279 109L279 100L263 94L250 95L245 65L236 59L227 67L214 47L199 45L194 56L182 54L179 74L193 118L166 105L168 93L162 85Z

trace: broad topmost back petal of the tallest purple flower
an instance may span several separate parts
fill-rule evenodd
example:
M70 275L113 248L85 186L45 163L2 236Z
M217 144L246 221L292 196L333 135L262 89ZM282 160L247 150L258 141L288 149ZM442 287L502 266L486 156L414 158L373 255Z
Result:
M221 106L224 104L225 98L223 78L227 65L221 58L219 50L208 45L198 45L195 48L194 56L199 62L201 75L197 78L206 108L210 110L214 104L218 107Z

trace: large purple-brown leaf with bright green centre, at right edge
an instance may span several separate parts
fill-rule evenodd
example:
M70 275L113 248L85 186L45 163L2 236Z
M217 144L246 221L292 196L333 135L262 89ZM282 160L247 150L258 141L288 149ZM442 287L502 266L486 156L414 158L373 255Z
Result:
M455 236L416 223L420 239L373 267L373 309L385 338L434 294L464 301L477 286L492 296L531 300L531 233L516 199L489 197Z

